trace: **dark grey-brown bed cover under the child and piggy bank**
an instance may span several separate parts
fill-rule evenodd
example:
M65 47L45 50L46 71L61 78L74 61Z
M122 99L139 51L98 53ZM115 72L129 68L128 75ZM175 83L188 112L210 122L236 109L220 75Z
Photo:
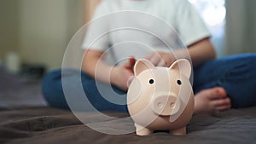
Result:
M91 130L73 112L48 107L40 88L40 81L27 81L0 68L0 143L256 143L256 107L231 109L217 116L196 114L188 124L188 135L169 135L165 131L148 136L108 135ZM93 113L84 114L97 121ZM114 125L111 121L108 124ZM128 120L122 125L125 129L133 124Z

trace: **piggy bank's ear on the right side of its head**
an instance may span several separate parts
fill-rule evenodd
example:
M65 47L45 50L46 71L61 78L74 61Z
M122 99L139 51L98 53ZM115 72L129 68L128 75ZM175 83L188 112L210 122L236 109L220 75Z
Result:
M172 66L170 66L169 68L175 69L175 70L181 72L187 78L190 77L191 70L192 70L189 60L186 60L186 59L180 59L180 60L174 61L172 63Z

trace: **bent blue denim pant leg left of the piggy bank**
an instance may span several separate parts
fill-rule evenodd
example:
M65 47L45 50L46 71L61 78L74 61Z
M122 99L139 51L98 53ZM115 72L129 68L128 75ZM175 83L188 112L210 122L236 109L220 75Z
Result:
M70 99L71 97L65 97L62 88L62 82L65 83L65 86L67 86L68 89L71 88L70 92L72 92L73 100ZM81 90L78 90L77 87L80 82L82 82L82 90L84 90L83 94L78 93L78 91ZM84 72L79 72L78 70L73 69L65 69L49 72L44 78L42 90L45 100L49 103L49 106L52 107L69 109L67 105L67 100L70 100L74 103L74 105L79 106L91 104L98 111L128 112L126 106L126 95L124 91L113 87L114 91L116 92L114 94L116 95L112 95L113 93L108 91L99 91L98 87L101 90L109 90L108 88L112 89L112 87L109 87L109 84L97 82L94 78L90 78L90 76L88 76ZM88 103L88 101L80 101L79 96L83 96L84 94L87 96L90 103ZM102 96L102 94L104 96ZM116 103L122 103L123 105L114 104L113 102L108 101L108 99L118 100ZM88 108L88 111L90 111L90 108Z

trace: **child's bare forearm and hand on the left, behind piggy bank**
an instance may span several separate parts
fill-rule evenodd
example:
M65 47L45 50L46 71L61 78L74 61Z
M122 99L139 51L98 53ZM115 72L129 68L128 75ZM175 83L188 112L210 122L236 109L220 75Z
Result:
M108 66L101 60L102 55L102 51L87 50L84 55L82 70L97 80L127 90L129 78L133 76L134 58L127 60L122 66Z

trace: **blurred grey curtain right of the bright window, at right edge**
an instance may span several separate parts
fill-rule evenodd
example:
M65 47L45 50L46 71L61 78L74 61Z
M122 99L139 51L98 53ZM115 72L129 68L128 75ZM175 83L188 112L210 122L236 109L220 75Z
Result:
M226 55L256 52L255 0L226 0Z

